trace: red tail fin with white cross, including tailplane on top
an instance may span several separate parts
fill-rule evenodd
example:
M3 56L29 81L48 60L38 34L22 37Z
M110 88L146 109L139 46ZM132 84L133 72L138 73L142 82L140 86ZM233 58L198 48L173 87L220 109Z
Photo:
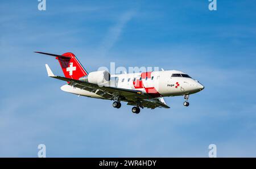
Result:
M87 75L87 71L82 67L79 60L77 60L75 54L73 53L64 53L62 55L44 53L44 52L35 52L41 54L47 54L49 56L55 56L56 60L59 61L60 67L66 78L78 80L80 77Z

